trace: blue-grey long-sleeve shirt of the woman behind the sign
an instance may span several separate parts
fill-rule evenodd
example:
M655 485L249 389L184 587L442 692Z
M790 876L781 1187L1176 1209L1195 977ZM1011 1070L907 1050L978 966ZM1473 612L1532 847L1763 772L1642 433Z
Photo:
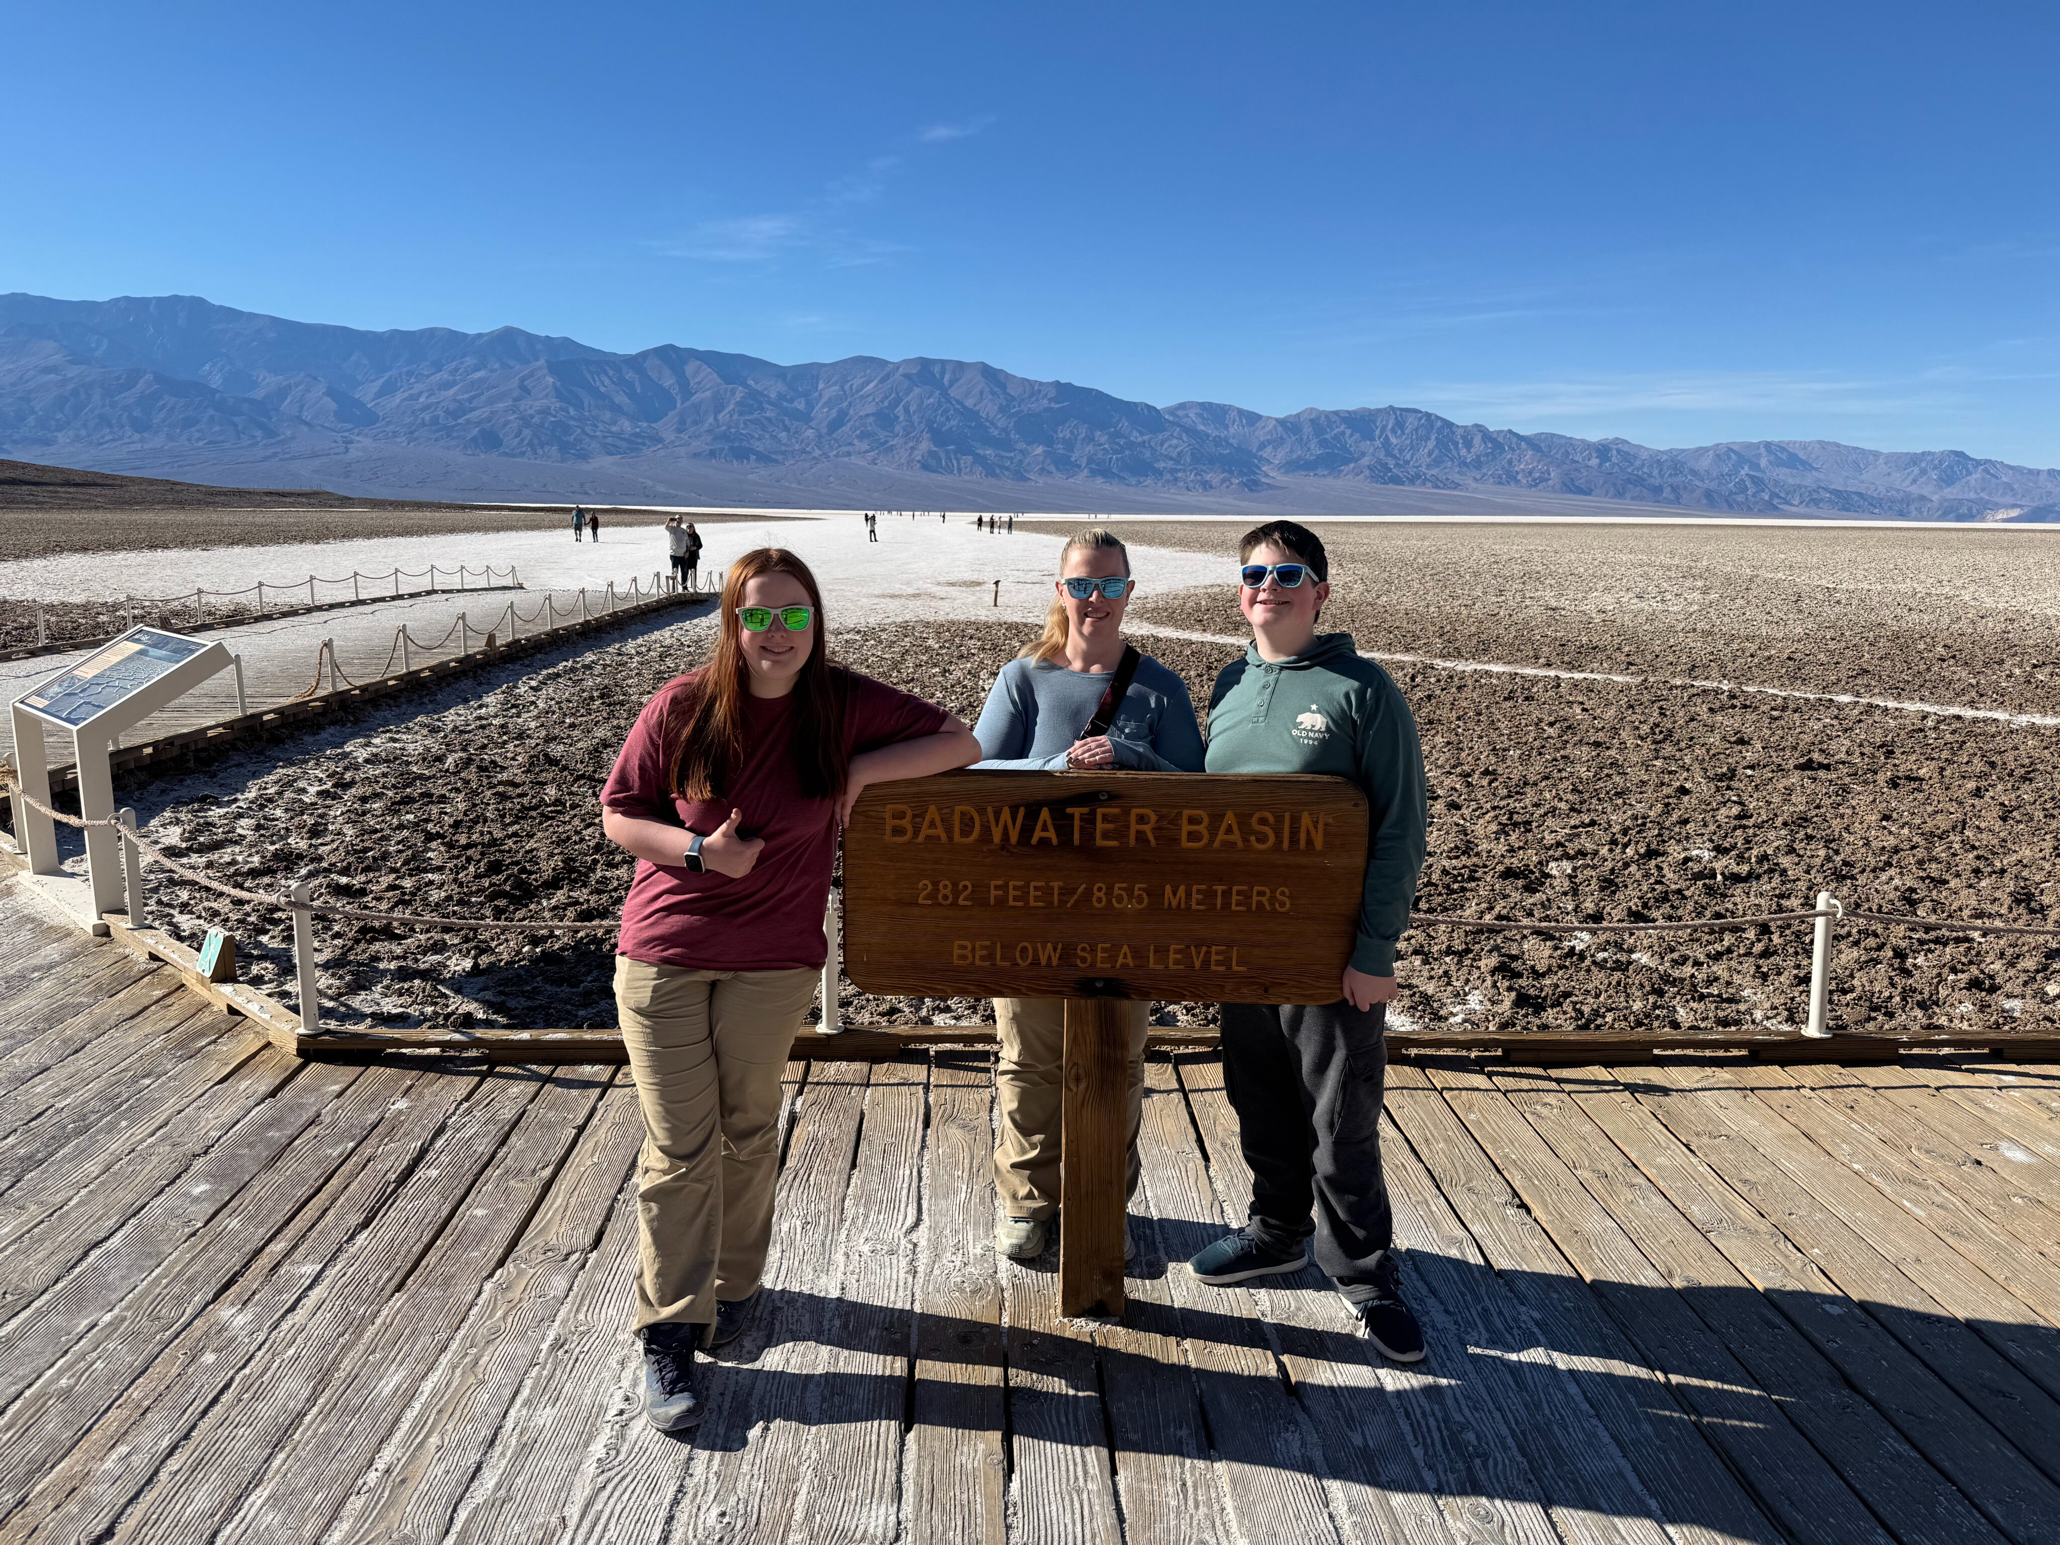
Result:
M1063 772L1108 690L1108 674L1073 672L1057 661L1011 659L995 676L972 733L985 760L974 766ZM1145 772L1201 772L1201 731L1187 684L1152 655L1137 661L1131 690L1108 725L1117 766Z

